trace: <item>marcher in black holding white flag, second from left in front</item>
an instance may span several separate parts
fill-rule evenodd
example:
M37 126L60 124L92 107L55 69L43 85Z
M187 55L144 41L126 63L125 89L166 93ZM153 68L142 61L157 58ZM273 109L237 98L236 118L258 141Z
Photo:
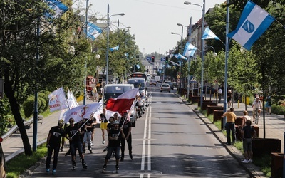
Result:
M73 169L75 169L76 167L76 149L77 149L81 157L82 167L83 169L87 169L87 164L84 160L84 155L83 155L83 145L81 142L81 135L84 134L84 131L82 132L80 127L74 124L73 118L69 119L69 123L70 125L66 127L66 138L70 140L72 167Z

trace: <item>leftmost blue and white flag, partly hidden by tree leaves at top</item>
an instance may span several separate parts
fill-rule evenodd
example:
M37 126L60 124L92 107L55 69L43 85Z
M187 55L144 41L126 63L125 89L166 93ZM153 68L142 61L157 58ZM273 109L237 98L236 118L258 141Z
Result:
M46 16L48 19L56 19L68 10L68 7L62 4L61 1L45 0L45 2L48 4L49 8L54 11L48 11L44 14L44 16Z

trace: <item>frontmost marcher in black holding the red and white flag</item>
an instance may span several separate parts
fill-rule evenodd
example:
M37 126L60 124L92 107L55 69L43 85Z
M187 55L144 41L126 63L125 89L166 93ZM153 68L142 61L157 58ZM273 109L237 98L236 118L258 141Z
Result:
M105 156L105 162L102 168L102 172L105 172L107 167L108 160L110 159L113 152L115 152L115 169L118 171L119 169L119 161L120 161L120 142L125 138L125 134L122 128L119 128L119 121L115 120L113 122L113 129L111 129L108 133L108 152Z

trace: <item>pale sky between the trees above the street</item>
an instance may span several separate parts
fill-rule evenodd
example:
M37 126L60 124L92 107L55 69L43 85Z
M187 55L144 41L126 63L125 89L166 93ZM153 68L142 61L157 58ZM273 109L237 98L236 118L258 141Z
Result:
M86 7L86 1L81 6ZM186 37L186 27L189 26L190 17L192 24L202 18L203 0L186 0L195 5L185 5L185 0L88 0L90 9L88 15L98 14L107 16L107 6L110 6L109 15L124 13L125 16L111 16L110 22L119 28L130 26L130 34L135 35L135 42L143 55L161 53L175 48L181 35ZM225 0L205 0L205 12L215 4L221 4ZM177 34L171 34L177 33Z

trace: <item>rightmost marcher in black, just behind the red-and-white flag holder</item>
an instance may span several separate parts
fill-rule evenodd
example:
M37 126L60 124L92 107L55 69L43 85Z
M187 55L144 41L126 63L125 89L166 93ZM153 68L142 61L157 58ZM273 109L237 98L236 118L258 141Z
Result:
M128 113L124 113L123 117L120 120L120 127L123 128L123 132L125 134L125 138L122 139L121 141L121 156L120 156L120 161L124 160L125 157L125 141L127 140L128 143L128 150L129 150L129 156L130 159L133 160L133 155L132 155L132 125L130 123L130 120L127 120Z

